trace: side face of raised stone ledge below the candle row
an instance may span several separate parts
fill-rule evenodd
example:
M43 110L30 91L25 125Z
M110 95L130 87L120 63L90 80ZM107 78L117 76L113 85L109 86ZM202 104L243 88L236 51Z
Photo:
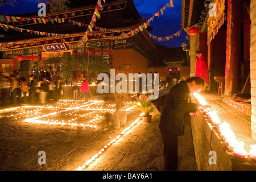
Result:
M199 171L256 170L256 160L233 155L217 126L204 113L191 118L193 145ZM216 152L216 164L213 154ZM210 160L210 162L209 162Z

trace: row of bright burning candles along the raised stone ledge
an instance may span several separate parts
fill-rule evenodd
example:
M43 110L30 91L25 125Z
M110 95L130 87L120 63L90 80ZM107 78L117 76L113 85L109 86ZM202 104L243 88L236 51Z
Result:
M207 101L200 96L200 94L193 94L195 98L202 105L207 105ZM244 158L254 158L256 159L256 144L250 144L251 150L247 152L243 147L244 143L242 141L238 141L236 139L235 134L229 128L229 124L225 121L222 123L218 118L217 111L209 111L206 115L210 118L210 120L218 127L220 130L220 134L224 138L225 142L229 144L230 148L232 148L233 153L237 156L241 156Z

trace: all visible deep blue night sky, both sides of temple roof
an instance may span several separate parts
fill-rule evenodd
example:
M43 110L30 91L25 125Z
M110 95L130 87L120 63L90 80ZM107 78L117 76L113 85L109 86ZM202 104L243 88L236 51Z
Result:
M107 2L108 0L106 0ZM169 0L170 1L170 0ZM168 0L134 0L135 7L137 8L141 17L146 17L146 20L150 19L155 13L157 13L164 5L166 5ZM104 2L102 1L102 4ZM38 11L36 0L17 0L14 6L1 6L0 14L11 15L11 14L26 14L34 13ZM150 32L152 35L164 37L175 34L177 31L181 30L181 0L174 0L174 7L167 7L163 11L163 15L160 13L160 18L158 16L154 17L154 20L150 22L150 26L153 27L153 31ZM158 42L156 44L162 44L168 47L180 47L182 43L188 44L188 40L185 38L187 34L181 30L181 35L177 38L171 39L169 41Z

